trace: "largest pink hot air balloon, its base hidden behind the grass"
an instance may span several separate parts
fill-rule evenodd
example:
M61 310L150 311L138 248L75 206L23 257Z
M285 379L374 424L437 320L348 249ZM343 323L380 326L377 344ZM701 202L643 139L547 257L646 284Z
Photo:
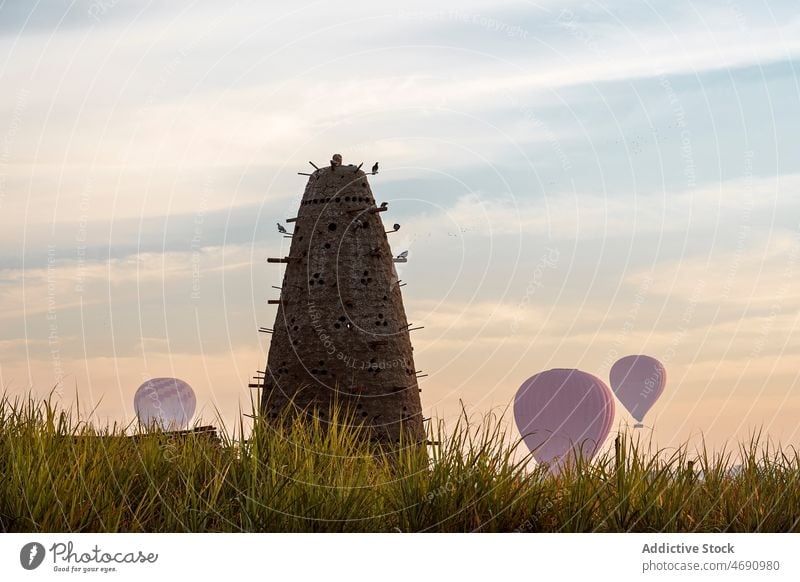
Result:
M558 470L573 449L587 460L594 457L614 422L614 397L592 374L547 370L522 383L514 419L536 460Z

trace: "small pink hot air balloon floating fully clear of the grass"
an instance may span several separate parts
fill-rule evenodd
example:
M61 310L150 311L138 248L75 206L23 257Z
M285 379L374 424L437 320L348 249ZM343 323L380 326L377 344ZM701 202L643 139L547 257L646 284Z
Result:
M664 365L650 356L625 356L611 366L611 388L622 405L642 427L642 419L664 392L667 371Z

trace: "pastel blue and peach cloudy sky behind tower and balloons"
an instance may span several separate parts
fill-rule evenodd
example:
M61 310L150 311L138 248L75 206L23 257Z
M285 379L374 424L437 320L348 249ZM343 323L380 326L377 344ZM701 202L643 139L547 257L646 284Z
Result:
M425 416L646 353L659 445L797 445L798 54L792 1L0 0L0 386L124 424L175 376L233 425L338 152L402 225Z

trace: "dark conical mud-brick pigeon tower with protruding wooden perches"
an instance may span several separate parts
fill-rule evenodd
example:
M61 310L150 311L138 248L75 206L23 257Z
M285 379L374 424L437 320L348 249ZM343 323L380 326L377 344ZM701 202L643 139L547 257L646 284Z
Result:
M315 166L316 167L316 166ZM373 438L425 438L409 323L367 175L342 166L310 175L293 223L271 330L261 412L286 406L322 420L336 400ZM395 225L396 228L399 226ZM394 230L396 230L396 228ZM389 231L391 234L392 231ZM401 428L402 427L402 428Z

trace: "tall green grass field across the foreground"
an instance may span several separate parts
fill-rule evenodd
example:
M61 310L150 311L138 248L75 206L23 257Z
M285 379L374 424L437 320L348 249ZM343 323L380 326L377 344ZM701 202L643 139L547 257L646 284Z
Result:
M131 439L4 397L0 531L800 531L796 450L756 437L728 452L660 451L623 434L616 452L553 476L502 426L440 423L437 445L392 453L358 428L299 421L256 422L247 442L225 430L221 443Z

